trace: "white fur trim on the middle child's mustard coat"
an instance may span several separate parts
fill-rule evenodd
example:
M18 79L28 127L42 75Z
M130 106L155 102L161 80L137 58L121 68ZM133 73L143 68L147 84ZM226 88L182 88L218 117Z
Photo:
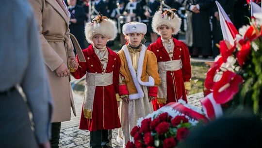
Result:
M154 86L154 84L155 84L154 79L151 76L149 76L148 82L142 82L141 81L144 57L145 57L145 53L146 53L146 50L147 50L146 46L142 45L142 50L140 52L139 59L138 59L137 75L136 75L135 70L133 68L132 60L131 60L131 57L130 57L130 54L129 54L127 46L124 45L122 47L122 50L125 53L125 56L126 56L126 59L127 59L127 62L128 62L128 68L130 70L133 82L134 82L136 90L138 92L138 93L135 93L135 94L130 94L129 95L129 99L134 100L134 99L143 98L144 97L144 92L142 91L142 88L141 88L140 85L143 85L143 86Z

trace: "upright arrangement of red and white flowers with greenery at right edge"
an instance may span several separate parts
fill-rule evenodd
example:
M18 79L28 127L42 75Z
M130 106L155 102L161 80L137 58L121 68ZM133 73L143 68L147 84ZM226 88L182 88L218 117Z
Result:
M252 108L261 114L262 21L252 19L239 29L234 43L219 43L221 56L215 58L205 80L216 103L227 108Z

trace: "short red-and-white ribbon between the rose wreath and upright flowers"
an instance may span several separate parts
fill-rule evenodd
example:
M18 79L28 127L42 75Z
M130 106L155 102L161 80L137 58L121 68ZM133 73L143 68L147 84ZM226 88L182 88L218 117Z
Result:
M202 104L203 111L210 120L223 116L221 105L215 102L213 92L209 93L200 102Z

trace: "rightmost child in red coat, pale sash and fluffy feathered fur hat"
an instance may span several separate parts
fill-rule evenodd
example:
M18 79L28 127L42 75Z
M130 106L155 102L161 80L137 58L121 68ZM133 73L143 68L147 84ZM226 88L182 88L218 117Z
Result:
M180 30L181 19L173 12L175 9L155 13L152 29L160 35L156 42L148 46L158 61L161 84L157 99L153 101L154 110L169 102L183 99L190 90L191 65L189 51L185 43L172 37Z

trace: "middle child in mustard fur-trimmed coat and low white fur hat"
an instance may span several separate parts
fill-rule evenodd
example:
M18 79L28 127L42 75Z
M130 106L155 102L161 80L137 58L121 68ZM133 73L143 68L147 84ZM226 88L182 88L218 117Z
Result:
M140 117L153 111L151 101L157 97L160 84L157 59L141 40L147 33L147 25L130 22L123 25L128 44L117 53L121 60L119 114L122 128L118 129L117 141L125 147L131 140L131 129Z

